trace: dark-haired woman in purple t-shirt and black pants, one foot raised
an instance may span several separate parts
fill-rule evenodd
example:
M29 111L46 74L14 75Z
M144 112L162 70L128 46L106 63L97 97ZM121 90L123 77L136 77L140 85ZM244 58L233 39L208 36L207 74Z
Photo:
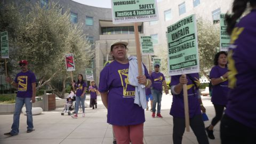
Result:
M220 121L224 107L227 105L228 95L228 68L227 53L218 52L214 57L214 67L210 71L212 83L212 103L215 109L215 117L209 126L205 128L210 139L215 139L213 135L213 127Z

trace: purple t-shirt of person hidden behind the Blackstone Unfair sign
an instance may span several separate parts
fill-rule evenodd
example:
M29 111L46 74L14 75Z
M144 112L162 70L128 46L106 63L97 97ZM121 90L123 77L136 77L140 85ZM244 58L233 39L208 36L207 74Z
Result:
M200 109L200 103L198 101L198 94L197 94L197 89L193 82L190 80L188 75L191 76L193 81L197 81L199 79L198 73L194 74L187 74L187 79L188 79L188 84L187 84L187 89L188 89L188 109L189 109L189 117L192 118L196 115L201 115L201 109ZM177 76L172 76L171 77L171 84L170 85L177 85L180 83L181 75ZM183 90L181 90L180 94L173 94L172 98L172 107L170 111L170 115L173 117L180 117L184 118L185 117L185 110L184 110L184 100L183 100Z

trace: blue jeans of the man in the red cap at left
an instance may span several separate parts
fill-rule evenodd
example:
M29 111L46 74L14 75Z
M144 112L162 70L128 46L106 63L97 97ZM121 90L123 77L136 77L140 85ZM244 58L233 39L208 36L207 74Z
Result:
M25 103L26 113L27 113L27 130L33 130L33 117L32 117L32 102L31 98L19 98L16 97L15 109L13 114L13 124L11 134L17 135L19 133L20 124L20 112Z

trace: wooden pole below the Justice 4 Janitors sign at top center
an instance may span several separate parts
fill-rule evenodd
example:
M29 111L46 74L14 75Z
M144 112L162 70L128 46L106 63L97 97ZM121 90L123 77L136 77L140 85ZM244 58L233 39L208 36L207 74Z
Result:
M137 22L134 22L134 36L135 36L135 42L136 42L136 53L137 53L139 76L141 76L142 75L141 51L140 51L140 38L139 38Z

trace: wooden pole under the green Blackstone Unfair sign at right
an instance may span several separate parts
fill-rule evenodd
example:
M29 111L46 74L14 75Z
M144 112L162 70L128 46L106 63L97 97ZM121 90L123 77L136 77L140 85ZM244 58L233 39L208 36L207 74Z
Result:
M183 84L183 99L184 99L184 109L185 109L186 131L189 132L190 129L189 129L189 111L188 111L188 90L187 90L187 84Z

